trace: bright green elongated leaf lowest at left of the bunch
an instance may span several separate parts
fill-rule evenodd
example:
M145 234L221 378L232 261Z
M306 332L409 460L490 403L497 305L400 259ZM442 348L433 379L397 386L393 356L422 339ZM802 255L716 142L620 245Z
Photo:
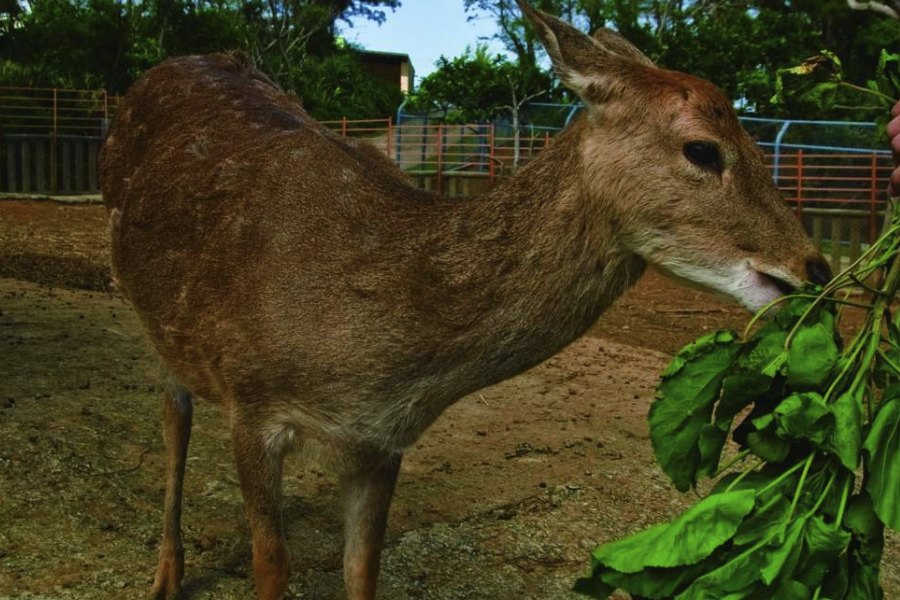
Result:
M593 552L603 567L637 573L647 567L678 567L699 562L728 541L753 510L753 490L704 498L672 523L655 525Z

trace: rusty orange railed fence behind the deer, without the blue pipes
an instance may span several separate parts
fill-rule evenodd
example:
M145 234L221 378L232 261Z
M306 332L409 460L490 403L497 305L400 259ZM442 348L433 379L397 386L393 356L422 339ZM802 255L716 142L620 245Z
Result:
M103 90L0 86L0 191L96 191L100 143L118 107ZM551 143L550 131L519 136L495 124L450 125L393 119L324 121L345 137L363 138L381 149L424 188L470 195L494 187ZM887 201L890 154L791 149L767 161L797 216L816 210L852 211L865 218L874 239ZM849 214L849 213L847 213Z

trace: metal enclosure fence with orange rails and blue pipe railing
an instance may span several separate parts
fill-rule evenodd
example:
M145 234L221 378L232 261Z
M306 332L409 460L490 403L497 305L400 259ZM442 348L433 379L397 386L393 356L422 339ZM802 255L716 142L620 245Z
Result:
M0 87L0 192L97 192L97 157L117 106L118 98L102 90ZM381 148L424 189L469 196L537 156L578 110L529 107L518 158L516 132L503 123L449 125L400 113L399 124L394 118L323 124ZM786 201L817 241L831 243L835 261L875 238L892 161L873 124L742 121L766 151Z

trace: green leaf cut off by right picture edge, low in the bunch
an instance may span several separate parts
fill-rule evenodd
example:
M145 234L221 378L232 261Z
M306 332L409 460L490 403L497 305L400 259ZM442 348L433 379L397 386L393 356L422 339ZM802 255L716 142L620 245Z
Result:
M881 522L900 530L900 398L885 399L863 445L868 455L866 490Z

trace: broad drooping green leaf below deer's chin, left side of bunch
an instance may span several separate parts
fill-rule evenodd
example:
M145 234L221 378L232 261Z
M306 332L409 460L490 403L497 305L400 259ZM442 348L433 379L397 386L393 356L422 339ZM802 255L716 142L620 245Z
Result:
M697 480L700 434L740 350L731 333L706 336L678 353L657 388L650 407L650 438L657 461L681 491Z

